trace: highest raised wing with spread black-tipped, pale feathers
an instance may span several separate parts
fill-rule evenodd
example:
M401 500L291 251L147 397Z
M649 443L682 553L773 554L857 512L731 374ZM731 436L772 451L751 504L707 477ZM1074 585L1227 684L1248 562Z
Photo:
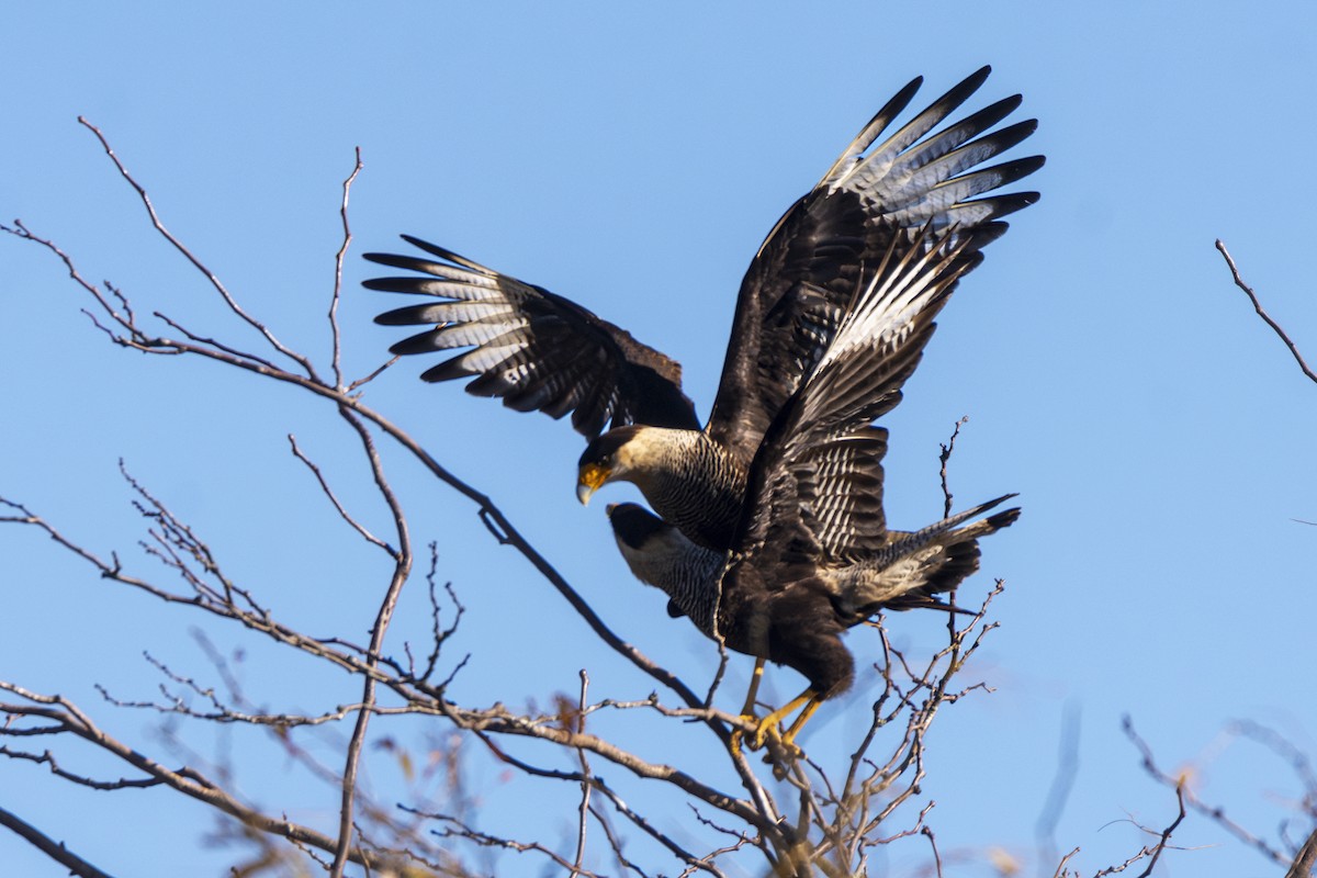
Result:
M1001 217L1036 192L977 197L1033 174L1042 157L979 167L1015 146L1036 120L985 133L1019 107L1015 95L930 134L988 78L984 67L877 142L922 79L878 111L823 179L778 220L736 301L727 359L707 430L748 466L786 400L827 350L861 280L886 253L901 257L921 229L963 258L1006 230ZM961 270L967 271L972 265Z

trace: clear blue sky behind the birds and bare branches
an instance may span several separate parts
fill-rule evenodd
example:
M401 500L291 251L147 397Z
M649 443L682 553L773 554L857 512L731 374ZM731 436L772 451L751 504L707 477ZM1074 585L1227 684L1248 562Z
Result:
M927 78L923 99L992 63L981 100L1023 92L1021 113L1040 120L1027 151L1048 155L1029 182L1043 199L961 284L886 421L888 516L918 527L938 515L938 444L968 415L957 498L1019 491L1025 516L988 541L967 586L972 598L993 577L1008 582L1001 629L968 671L996 692L939 717L931 823L942 850L957 852L948 874L996 874L993 848L1042 869L1034 827L1073 711L1077 775L1055 836L1062 852L1083 849L1072 865L1090 874L1144 844L1130 819L1160 828L1173 816L1122 715L1168 769L1192 769L1205 799L1259 833L1301 788L1222 729L1247 717L1317 753L1304 670L1317 529L1295 521L1317 520L1317 388L1213 249L1227 244L1317 359L1301 255L1317 200L1314 25L1303 3L25 4L0 33L0 212L142 309L244 340L153 236L76 125L83 115L229 288L290 344L323 354L340 184L360 146L354 254L399 249L406 232L573 297L678 359L707 412L740 274L781 211L911 76ZM398 338L370 323L395 304L360 288L373 274L349 258L341 319L358 374ZM367 504L357 452L328 407L208 363L112 349L83 304L47 254L0 241L0 495L128 557L141 527L116 471L122 457L230 575L309 631L363 640L382 559L350 541L284 440L296 433L344 495ZM702 679L710 654L698 634L630 581L602 503L576 503L579 438L457 386L421 384L425 365L398 365L367 401L494 498L623 637ZM468 607L458 649L473 658L458 696L544 704L574 692L581 667L601 695L648 692L494 545L469 504L400 454L389 465L417 538L437 541L440 575ZM385 523L378 505L361 515ZM399 638L425 627L414 591L404 609L419 616L400 619ZM204 677L192 633L204 620L113 592L16 528L0 528L0 594L11 620L0 677L95 707L144 749L165 746L153 717L99 704L92 683L150 698L158 678L142 650ZM890 628L911 649L939 632L909 615ZM244 650L255 700L317 710L354 698L356 683L237 632L205 633L221 652ZM873 659L864 640L848 640L861 662ZM770 677L780 696L799 686L790 671ZM860 721L863 683L824 707L807 749ZM284 775L281 757L240 731L202 729L191 744L205 758L240 754L240 783L269 807L332 815L332 791ZM656 758L674 746L636 745ZM387 787L387 765L377 770ZM470 783L489 813L557 795L478 766ZM219 871L224 852L202 844L212 820L170 800L68 794L40 769L0 762L0 806L111 873ZM1175 853L1159 874L1275 871L1201 819L1176 841L1205 848ZM897 845L892 866L923 853ZM11 835L0 861L61 874Z

